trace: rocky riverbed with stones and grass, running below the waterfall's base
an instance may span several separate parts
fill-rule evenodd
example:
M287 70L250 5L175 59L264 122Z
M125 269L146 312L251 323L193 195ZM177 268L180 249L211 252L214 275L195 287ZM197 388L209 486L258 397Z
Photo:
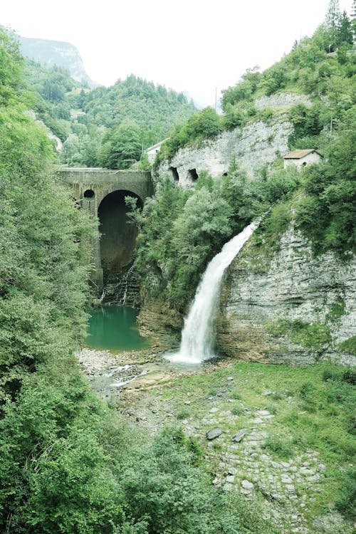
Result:
M84 349L78 357L100 397L150 434L174 424L197 439L212 483L259 503L281 533L352 533L333 506L335 465L295 430L298 419L315 424L293 389L299 370L234 360L179 368L150 351Z

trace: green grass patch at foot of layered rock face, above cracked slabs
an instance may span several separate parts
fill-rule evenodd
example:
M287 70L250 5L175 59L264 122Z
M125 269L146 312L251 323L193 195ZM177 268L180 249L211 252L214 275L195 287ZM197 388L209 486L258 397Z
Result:
M226 387L230 376L234 377L232 390ZM155 403L163 402L167 411L180 413L182 398L189 394L192 401L189 420L192 426L200 428L206 446L204 436L210 423L204 426L204 418L211 408L211 403L206 401L211 389L219 392L219 396L214 397L214 405L220 403L216 417L223 409L239 416L219 419L225 438L214 442L213 451L224 453L226 444L231 443L230 439L239 429L251 428L253 414L258 409L268 409L275 417L268 419L266 426L269 435L264 442L266 453L278 461L296 456L308 461L308 451L316 451L318 463L325 465L325 478L318 485L319 491L315 491L315 487L303 489L307 498L315 499L308 501L308 511L303 512L308 523L313 525L315 517L323 515L330 506L337 506L340 513L347 516L350 477L345 476L345 472L356 454L355 370L330 363L288 367L240 362L204 375L179 377L171 387L162 388L162 396L146 392L142 402L146 407L153 398ZM272 394L266 396L265 392ZM229 403L231 398L236 402ZM184 416L187 418L186 414ZM239 457L240 449L234 454ZM312 526L310 528L313 532Z

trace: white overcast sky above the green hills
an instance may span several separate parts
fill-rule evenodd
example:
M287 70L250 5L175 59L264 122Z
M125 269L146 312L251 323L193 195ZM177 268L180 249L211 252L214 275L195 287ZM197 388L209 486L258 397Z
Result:
M1 0L0 23L68 41L90 78L133 73L214 105L215 89L271 66L323 22L329 0ZM351 12L352 0L339 0Z

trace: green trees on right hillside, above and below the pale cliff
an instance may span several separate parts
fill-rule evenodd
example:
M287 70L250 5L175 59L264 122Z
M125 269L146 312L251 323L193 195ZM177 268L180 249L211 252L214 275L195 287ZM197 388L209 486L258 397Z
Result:
M314 35L295 43L280 62L262 73L248 70L239 83L224 90L222 115L205 108L175 127L155 167L180 147L199 146L224 129L255 120L278 122L281 110L257 111L256 98L279 92L306 94L311 105L298 103L288 110L294 126L288 144L290 150L318 149L323 163L295 172L281 169L283 159L276 156L271 169L263 168L251 179L233 160L228 176L201 175L189 191L168 179L157 199L148 201L142 213L132 214L141 228L137 266L145 298L161 295L174 308L187 310L207 261L221 244L268 210L253 238L259 240L261 253L277 246L292 214L315 253L331 249L345 261L355 253L354 31L347 14L329 10Z

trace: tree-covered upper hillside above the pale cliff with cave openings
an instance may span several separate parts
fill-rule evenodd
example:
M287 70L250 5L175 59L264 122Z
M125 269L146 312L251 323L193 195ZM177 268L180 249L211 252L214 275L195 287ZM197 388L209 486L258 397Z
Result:
M314 35L295 41L281 61L263 72L258 67L248 69L239 83L223 90L222 115L206 108L179 125L162 146L156 164L172 159L179 148L197 146L223 131L258 120L278 122L283 112L288 112L294 127L288 138L290 150L315 148L323 153L330 145L328 132L337 130L344 113L355 103L354 29L345 12L330 22L327 14L327 21ZM268 103L268 98L281 93L308 95L310 105L302 102L283 109ZM261 105L263 99L265 105Z

